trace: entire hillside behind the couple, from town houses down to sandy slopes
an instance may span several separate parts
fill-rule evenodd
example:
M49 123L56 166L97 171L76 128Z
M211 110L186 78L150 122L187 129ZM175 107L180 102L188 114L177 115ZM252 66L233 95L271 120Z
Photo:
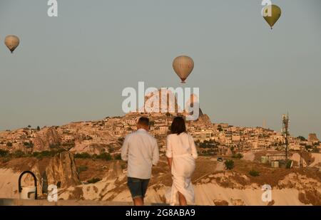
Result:
M124 137L136 130L139 117L146 116L161 152L152 170L146 203L167 204L165 192L170 189L172 176L165 144L177 115L184 116L128 113L62 126L2 131L0 198L18 198L19 192L13 190L18 188L17 179L24 170L31 170L39 179L41 202L46 202L46 184L54 184L58 187L58 201L64 204L131 204L128 167L121 161L120 150ZM197 205L267 205L261 200L260 186L264 184L273 187L275 200L268 205L321 204L317 191L321 189L321 146L317 135L310 134L307 139L290 136L290 159L285 160L283 132L213 123L201 110L198 120L187 121L186 125L200 156L193 174ZM31 184L31 180L26 178L24 184Z

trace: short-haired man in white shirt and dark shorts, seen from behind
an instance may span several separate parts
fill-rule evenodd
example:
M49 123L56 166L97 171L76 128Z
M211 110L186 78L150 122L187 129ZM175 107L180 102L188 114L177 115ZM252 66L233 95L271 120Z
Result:
M148 134L149 120L141 117L137 131L127 135L121 148L121 159L128 161L128 188L136 206L143 206L151 179L151 169L159 159L156 139Z

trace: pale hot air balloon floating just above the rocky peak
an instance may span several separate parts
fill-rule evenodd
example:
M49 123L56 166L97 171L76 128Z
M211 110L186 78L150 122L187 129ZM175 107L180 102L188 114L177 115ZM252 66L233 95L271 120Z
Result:
M173 69L178 75L182 83L185 83L185 80L188 78L188 75L192 73L194 68L194 61L188 56L178 56L173 61Z

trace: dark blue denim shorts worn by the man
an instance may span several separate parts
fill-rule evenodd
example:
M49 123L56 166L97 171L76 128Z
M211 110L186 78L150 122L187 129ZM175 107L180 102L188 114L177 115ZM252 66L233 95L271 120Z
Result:
M131 197L133 199L136 198L144 198L147 188L148 188L149 179L138 179L133 177L128 177L127 185L129 191L131 192Z

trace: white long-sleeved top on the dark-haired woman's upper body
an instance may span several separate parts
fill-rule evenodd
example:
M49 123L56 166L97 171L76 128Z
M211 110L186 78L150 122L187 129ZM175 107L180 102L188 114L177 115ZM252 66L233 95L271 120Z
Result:
M191 154L194 159L198 158L193 137L183 132L180 135L172 134L167 136L166 157L177 157Z

